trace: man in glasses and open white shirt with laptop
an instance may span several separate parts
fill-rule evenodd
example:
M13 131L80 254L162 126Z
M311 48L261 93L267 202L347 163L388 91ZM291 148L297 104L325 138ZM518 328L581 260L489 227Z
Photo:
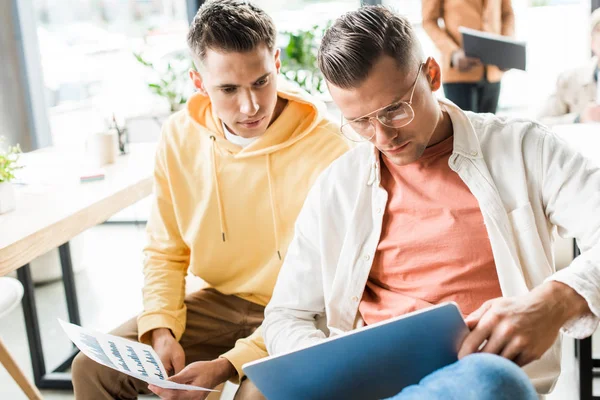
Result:
M459 361L396 398L537 399L560 374L559 335L598 325L600 170L535 122L437 99L440 66L424 59L410 23L383 7L325 34L342 133L364 144L304 203L265 343L280 354L454 301L471 330ZM560 271L556 229L582 249Z

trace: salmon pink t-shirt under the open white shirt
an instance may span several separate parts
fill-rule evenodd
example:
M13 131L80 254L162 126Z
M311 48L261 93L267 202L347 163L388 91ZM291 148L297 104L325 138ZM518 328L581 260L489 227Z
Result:
M502 296L477 199L448 166L452 145L451 136L400 167L382 156L389 197L359 305L367 324L445 301L466 316Z

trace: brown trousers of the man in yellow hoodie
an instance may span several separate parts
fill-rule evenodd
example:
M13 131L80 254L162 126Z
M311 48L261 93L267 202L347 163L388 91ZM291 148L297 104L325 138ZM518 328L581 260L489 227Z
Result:
M185 298L187 323L179 343L186 365L209 361L229 351L238 339L250 336L262 323L264 307L214 289L202 289ZM111 334L138 340L137 319L133 318ZM78 400L137 399L149 394L148 384L92 361L79 353L72 366L73 388ZM248 379L240 385L235 399L262 400L264 396Z

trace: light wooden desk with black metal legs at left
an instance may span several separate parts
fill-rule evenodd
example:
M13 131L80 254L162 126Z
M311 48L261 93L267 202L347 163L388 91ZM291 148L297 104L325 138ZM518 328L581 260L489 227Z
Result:
M86 168L77 154L49 148L22 157L25 168L19 176L24 184L17 186L17 209L0 215L0 276L17 270L25 287L23 313L39 388L72 388L64 371L76 351L54 372L46 373L29 263L59 248L69 319L80 325L69 241L152 193L155 148L154 144L131 146L130 154L103 167L104 180L86 183L79 181Z

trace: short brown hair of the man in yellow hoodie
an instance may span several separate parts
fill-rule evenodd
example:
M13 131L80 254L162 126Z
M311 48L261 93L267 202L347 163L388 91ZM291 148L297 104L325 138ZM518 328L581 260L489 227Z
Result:
M248 1L208 0L192 21L187 42L202 62L207 49L243 53L264 44L273 50L276 36L271 17Z

